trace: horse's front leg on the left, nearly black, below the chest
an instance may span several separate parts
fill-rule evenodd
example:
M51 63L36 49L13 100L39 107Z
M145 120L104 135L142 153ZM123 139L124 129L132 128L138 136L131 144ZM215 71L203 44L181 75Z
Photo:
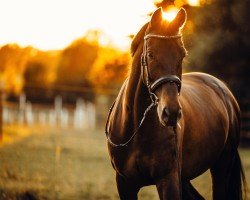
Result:
M116 185L121 200L137 200L138 184L116 174Z

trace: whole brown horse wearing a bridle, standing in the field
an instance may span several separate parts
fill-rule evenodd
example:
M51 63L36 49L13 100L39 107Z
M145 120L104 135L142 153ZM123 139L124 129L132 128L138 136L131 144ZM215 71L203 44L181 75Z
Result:
M158 9L133 39L131 72L106 124L121 199L147 185L160 199L203 199L190 180L207 169L213 199L243 199L240 109L217 78L182 74L185 21L184 9L172 22Z

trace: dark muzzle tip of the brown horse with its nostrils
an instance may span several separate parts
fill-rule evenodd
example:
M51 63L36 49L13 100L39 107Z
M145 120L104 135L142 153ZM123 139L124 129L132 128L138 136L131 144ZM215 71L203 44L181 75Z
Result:
M161 115L161 124L163 126L176 126L177 122L181 118L181 109L177 109L176 111L170 111L167 107L162 110Z

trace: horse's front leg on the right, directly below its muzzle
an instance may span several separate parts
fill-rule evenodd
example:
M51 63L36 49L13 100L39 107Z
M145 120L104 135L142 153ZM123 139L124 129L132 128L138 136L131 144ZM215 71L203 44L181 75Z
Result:
M182 190L177 170L158 180L156 187L161 200L181 200Z

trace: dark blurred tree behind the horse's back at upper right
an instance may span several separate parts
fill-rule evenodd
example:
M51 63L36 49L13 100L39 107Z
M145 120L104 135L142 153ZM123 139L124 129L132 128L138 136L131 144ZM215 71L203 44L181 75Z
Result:
M240 100L250 98L250 1L216 0L198 8L192 20L190 70L225 80Z

